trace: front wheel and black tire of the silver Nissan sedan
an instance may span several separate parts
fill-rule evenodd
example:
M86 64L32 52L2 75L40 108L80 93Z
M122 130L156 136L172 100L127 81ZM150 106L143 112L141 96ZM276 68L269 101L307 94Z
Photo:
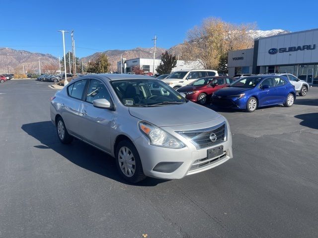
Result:
M139 153L132 142L122 140L116 146L116 166L123 179L137 183L146 178Z

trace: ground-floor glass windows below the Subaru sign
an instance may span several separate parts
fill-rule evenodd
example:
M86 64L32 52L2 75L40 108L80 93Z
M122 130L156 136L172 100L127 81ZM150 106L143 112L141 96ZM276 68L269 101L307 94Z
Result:
M309 84L318 85L318 64L271 65L266 73L291 73Z

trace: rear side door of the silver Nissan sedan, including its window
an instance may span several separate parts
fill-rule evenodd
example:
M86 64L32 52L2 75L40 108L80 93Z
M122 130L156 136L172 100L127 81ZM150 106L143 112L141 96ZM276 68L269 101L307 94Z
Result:
M79 137L79 107L84 96L87 79L72 83L67 88L67 96L61 99L61 115L69 133Z

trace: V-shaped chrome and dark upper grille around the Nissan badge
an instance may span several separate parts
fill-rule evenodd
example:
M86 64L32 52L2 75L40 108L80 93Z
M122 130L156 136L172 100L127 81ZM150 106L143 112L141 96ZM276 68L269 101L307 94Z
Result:
M177 131L180 135L191 139L191 142L197 149L202 149L219 144L226 140L226 124L225 122L210 128L200 130ZM215 134L216 140L212 141L210 136Z

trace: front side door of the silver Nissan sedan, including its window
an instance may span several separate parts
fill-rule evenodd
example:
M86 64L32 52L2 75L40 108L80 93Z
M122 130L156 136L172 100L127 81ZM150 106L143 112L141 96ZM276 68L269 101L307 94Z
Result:
M103 82L90 78L84 101L79 107L80 136L84 141L110 153L110 129L114 111L93 106L93 100L103 98L112 104L113 100Z

